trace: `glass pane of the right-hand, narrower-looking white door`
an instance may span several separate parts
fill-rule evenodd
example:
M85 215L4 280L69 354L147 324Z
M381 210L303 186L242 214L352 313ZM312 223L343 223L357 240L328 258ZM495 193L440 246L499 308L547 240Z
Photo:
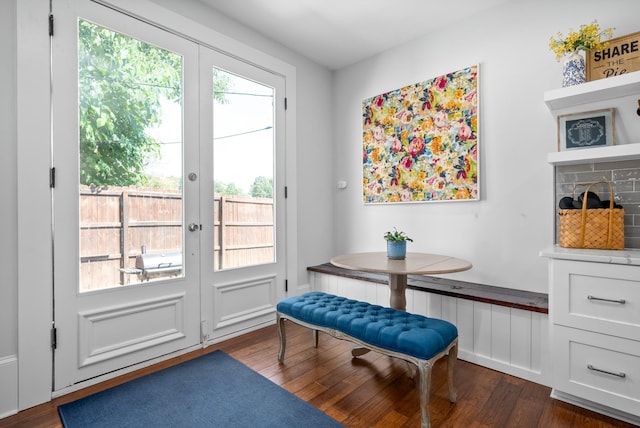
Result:
M275 262L274 89L213 69L214 270Z

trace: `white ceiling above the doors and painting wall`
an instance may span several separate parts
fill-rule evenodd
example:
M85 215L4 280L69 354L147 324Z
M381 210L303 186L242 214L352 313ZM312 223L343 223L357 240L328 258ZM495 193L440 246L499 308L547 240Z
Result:
M337 70L512 0L199 0Z

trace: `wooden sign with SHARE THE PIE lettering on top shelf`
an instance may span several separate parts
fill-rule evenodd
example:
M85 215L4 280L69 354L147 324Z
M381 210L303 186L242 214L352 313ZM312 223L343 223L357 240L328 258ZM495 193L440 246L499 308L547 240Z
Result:
M640 32L609 41L602 50L587 52L587 81L640 70Z

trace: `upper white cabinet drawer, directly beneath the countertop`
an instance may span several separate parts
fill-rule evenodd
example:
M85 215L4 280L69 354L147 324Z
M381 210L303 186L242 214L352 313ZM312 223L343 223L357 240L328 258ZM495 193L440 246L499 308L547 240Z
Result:
M640 340L640 266L554 260L554 324Z

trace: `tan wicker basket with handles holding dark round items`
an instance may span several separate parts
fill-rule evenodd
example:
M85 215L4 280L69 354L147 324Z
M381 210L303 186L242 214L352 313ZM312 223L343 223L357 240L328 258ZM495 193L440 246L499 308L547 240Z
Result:
M587 209L585 196L582 209L561 209L558 213L560 218L558 242L561 247L624 249L624 209L614 208L613 186L608 181L587 184L585 193L596 184L609 186L609 208ZM576 184L576 186L581 185ZM573 192L575 196L575 187Z

